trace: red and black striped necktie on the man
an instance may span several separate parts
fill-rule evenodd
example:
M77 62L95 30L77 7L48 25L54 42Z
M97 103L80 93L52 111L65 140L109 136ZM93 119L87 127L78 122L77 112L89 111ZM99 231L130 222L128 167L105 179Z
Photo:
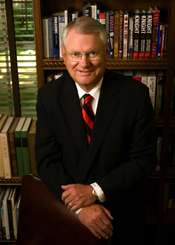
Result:
M87 142L90 144L92 141L92 131L94 127L95 116L92 110L93 97L90 94L83 96L84 103L82 106L82 117L86 129Z

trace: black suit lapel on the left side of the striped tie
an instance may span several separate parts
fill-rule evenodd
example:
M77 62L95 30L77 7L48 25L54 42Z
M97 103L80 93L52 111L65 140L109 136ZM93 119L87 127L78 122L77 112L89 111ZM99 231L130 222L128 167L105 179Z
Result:
M65 122L70 129L75 147L79 150L86 145L83 122L81 120L81 106L74 81L64 74L64 86L61 93L61 107L65 116Z

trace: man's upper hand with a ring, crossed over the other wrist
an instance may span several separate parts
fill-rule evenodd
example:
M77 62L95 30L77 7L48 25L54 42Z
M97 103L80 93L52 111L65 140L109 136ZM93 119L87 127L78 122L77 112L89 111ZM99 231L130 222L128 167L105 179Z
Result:
M91 205L96 201L90 185L69 184L62 185L61 188L63 189L61 199L72 211Z

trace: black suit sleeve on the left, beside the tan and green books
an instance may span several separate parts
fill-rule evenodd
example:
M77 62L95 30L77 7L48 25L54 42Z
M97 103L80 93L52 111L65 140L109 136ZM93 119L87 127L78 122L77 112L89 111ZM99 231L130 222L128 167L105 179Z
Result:
M61 185L70 181L62 165L61 146L56 141L49 115L45 106L43 90L38 92L37 127L36 127L36 158L37 169L41 179L57 198L61 197Z

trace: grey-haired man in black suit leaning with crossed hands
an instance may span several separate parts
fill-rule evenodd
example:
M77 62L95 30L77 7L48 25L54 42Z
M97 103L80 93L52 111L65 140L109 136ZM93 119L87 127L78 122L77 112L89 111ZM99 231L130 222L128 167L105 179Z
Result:
M143 244L153 109L145 85L106 70L106 47L103 26L94 19L79 17L64 30L67 71L38 93L38 172L96 237ZM90 128L83 121L85 94L93 98Z

